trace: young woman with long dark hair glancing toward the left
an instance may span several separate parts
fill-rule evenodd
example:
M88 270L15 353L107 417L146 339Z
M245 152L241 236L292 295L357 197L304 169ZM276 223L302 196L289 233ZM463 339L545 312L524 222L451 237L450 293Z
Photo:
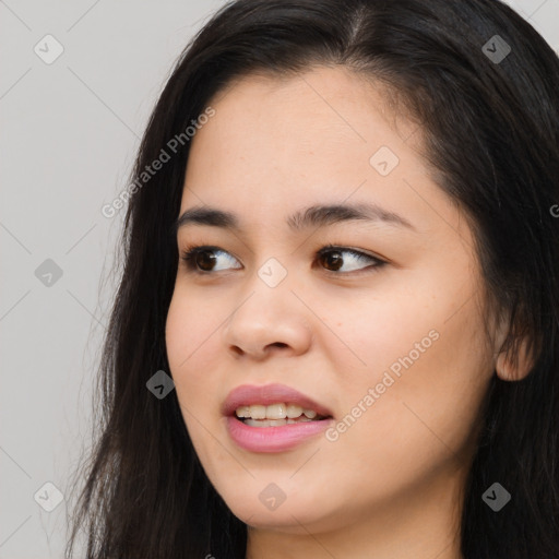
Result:
M91 558L557 558L559 61L496 0L239 0L138 155Z

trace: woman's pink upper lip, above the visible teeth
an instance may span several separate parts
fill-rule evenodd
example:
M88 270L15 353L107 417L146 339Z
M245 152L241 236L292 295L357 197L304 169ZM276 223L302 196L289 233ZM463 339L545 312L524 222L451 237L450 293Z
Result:
M281 402L297 404L304 409L314 409L314 412L324 417L332 416L332 412L328 407L285 384L263 384L260 386L241 384L229 392L222 405L222 413L229 416L234 415L235 411L240 406L270 405Z

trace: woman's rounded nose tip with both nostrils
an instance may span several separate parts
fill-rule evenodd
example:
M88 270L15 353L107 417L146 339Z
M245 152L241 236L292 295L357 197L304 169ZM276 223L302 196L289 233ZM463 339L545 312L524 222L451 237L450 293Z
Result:
M301 301L286 285L251 286L222 330L227 350L235 358L259 361L276 354L287 357L306 353L312 331Z

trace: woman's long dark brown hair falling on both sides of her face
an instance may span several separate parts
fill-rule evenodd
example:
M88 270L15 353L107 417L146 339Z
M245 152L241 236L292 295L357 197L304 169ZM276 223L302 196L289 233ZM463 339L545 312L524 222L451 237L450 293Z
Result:
M501 55L510 47L501 60L491 56L495 40L503 41ZM524 336L535 356L524 380L491 380L466 486L463 556L559 557L559 60L498 0L239 0L187 46L131 180L123 271L99 367L99 420L79 471L85 483L67 557L79 533L86 547L79 557L90 559L245 557L247 527L205 476L176 391L158 400L146 389L156 371L170 374L173 224L189 142L182 136L170 153L169 141L234 79L293 75L314 64L369 75L417 119L438 185L472 221L484 287L511 317L506 347L514 359ZM145 180L164 148L170 160ZM495 481L512 495L498 513L481 499Z

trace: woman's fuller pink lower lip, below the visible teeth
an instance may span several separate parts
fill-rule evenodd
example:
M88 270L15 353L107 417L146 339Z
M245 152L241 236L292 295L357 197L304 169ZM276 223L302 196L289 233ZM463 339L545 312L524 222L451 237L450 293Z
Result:
M236 417L227 417L229 437L251 452L283 452L325 431L333 419L304 421L281 427L250 427Z

